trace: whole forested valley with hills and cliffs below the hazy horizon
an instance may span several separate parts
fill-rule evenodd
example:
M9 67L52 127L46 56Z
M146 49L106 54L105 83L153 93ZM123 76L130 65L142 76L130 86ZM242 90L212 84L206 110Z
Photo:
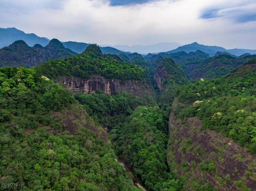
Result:
M74 52L57 39L0 49L0 182L255 191L256 55L192 45L148 55L67 42Z

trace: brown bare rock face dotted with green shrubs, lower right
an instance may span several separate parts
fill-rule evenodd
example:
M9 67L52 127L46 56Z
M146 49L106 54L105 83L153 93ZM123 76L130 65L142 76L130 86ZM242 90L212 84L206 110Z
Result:
M170 170L178 169L187 190L195 190L197 181L219 191L255 191L256 156L215 131L200 130L196 117L181 123L173 111L178 104L175 99L170 112L167 161Z

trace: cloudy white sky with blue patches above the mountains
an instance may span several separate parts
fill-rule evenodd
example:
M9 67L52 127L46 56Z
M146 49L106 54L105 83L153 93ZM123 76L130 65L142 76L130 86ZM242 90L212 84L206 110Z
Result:
M109 45L256 49L256 0L0 0L0 28Z

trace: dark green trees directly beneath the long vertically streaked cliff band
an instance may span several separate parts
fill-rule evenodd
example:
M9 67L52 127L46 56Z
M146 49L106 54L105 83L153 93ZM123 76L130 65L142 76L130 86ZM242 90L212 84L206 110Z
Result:
M92 94L78 93L75 98L86 107L86 112L104 127L116 126L139 105L154 104L150 97L136 98L130 93L115 93L110 96L102 90Z

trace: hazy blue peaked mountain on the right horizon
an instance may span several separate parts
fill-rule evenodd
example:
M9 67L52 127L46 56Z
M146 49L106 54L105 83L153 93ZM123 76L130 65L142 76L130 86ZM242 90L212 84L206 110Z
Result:
M197 50L203 51L210 56L214 56L218 51L219 52L227 52L236 56L240 56L244 53L250 53L250 54L256 54L256 50L250 50L250 49L225 49L223 47L218 47L218 46L207 46L207 45L201 45L198 44L197 42L187 44L180 46L174 50L170 50L164 53L176 53L179 51L185 51L186 53L189 52L195 52Z

